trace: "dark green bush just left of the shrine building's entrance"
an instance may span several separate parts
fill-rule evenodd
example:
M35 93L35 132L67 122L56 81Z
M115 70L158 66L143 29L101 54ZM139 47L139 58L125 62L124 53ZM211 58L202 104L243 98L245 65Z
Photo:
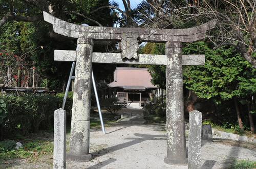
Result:
M100 100L100 106L106 109L111 114L116 114L118 110L121 110L122 105L117 105L117 98L102 98Z

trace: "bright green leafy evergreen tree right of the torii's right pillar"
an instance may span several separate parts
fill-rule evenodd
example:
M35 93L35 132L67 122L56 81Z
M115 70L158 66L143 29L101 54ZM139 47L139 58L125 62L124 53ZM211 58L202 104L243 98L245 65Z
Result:
M210 49L210 43L187 43L184 54L202 51L205 53L205 66L185 66L184 85L193 90L198 98L213 99L216 104L233 100L239 127L243 130L239 104L255 105L256 71L253 66L236 53L232 46ZM255 109L255 108L253 108ZM248 110L251 131L254 131L251 109Z

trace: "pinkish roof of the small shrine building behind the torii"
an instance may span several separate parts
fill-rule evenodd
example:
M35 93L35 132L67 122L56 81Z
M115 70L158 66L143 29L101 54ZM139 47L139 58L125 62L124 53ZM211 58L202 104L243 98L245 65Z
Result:
M151 75L147 68L117 67L114 71L114 81L109 87L144 86L145 88L157 88L151 83Z

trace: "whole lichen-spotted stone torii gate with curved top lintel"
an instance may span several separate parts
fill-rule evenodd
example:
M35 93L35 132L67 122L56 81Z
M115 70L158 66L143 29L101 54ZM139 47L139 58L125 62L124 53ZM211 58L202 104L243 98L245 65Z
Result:
M46 12L55 33L77 38L76 51L55 50L55 61L76 61L70 153L73 161L88 161L92 63L166 65L166 123L168 164L186 164L182 65L204 65L204 55L182 55L182 42L205 38L215 20L189 29L84 27ZM94 41L119 41L121 53L94 53ZM165 42L165 55L138 55L138 41Z

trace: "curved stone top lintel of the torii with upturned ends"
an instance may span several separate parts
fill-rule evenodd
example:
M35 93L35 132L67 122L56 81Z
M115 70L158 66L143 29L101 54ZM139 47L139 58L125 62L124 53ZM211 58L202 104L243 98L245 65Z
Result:
M150 28L113 28L113 27L84 27L58 19L44 11L45 21L53 25L55 33L71 37L86 37L91 39L122 40L135 38L141 41L167 42L193 42L205 37L206 31L216 25L216 20L211 20L200 26L188 29L150 29Z

